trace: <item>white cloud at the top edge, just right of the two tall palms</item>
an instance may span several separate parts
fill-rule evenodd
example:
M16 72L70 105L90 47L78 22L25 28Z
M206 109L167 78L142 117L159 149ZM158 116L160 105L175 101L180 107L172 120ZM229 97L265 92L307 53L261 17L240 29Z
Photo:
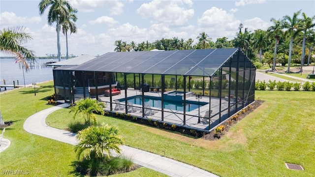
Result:
M119 0L71 0L73 7L82 12L95 12L96 9L109 10L111 15L123 13L124 3Z

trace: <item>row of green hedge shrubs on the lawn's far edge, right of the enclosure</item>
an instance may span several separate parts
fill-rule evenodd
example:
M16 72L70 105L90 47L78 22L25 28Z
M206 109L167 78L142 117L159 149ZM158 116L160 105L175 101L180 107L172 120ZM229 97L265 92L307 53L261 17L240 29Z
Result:
M271 81L269 80L268 83L266 81L259 81L255 83L255 90L286 90L286 91L315 91L315 82L312 84L307 81L304 84L302 83L291 83L291 82L281 82L276 80Z

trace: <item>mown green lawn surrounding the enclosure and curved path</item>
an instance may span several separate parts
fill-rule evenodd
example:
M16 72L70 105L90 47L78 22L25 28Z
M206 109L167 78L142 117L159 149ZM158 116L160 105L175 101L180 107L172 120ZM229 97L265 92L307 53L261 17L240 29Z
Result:
M5 132L12 144L1 152L0 170L29 170L32 176L72 176L69 174L71 161L75 159L72 146L23 130L25 119L36 109L49 107L41 99L52 94L53 88L41 90L36 96L32 89L18 89L0 95L5 121L17 120ZM256 99L265 102L218 141L189 138L117 118L97 118L100 122L117 126L127 146L159 155L164 155L164 150L166 157L221 177L314 176L314 92L256 91ZM61 109L52 113L47 121L51 126L65 128L66 122L71 120L72 115L67 109ZM301 164L305 171L288 170L285 162ZM134 175L119 176L145 173L151 174L147 176L161 176L143 168L137 171L131 172Z

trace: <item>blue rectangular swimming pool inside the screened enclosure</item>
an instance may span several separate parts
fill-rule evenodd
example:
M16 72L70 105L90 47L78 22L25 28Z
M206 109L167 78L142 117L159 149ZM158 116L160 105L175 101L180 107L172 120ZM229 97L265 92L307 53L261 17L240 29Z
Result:
M125 98L119 99L121 102L125 102ZM142 105L142 97L139 96L130 96L127 97L127 102L132 104ZM204 106L208 103L199 102L200 106ZM155 96L144 96L144 104L148 104L151 107L161 108L161 98ZM164 109L184 111L184 105L182 101L168 101L164 100ZM192 111L198 109L198 101L186 101L186 111Z

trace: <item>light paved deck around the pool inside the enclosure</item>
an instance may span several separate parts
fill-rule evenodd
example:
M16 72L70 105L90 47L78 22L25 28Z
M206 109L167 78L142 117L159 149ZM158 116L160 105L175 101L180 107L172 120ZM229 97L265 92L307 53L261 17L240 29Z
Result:
M147 96L155 96L155 97L161 97L161 92L144 92L144 95ZM141 96L141 92L139 90L134 89L127 89L127 96ZM126 113L125 109L122 110L115 110L116 104L114 103L114 100L118 99L124 99L125 98L125 90L121 90L121 94L112 96L112 111L119 112L119 113ZM110 97L105 96L98 96L98 99L106 103L105 111L110 111ZM195 96L187 97L186 100L189 101L196 101ZM198 128L198 129L204 129L208 130L209 128L209 119L203 119L205 112L209 110L209 96L202 96L200 98L200 102L206 102L208 104L201 106L200 105L200 120L201 123L198 122L198 108L194 109L192 111L186 112L186 126ZM225 109L228 107L228 101L222 99L221 100L221 109ZM122 101L121 104L125 108L125 102ZM213 110L213 113L211 116L219 113L219 105L220 105L220 99L219 98L211 98L211 110ZM134 107L137 109L134 109L133 112L131 110L127 112L127 114L130 114L131 116L137 116L137 117L143 117L142 114L142 105L133 104ZM145 118L151 118L152 120L162 120L161 119L161 108L151 107L154 111L152 111L151 115L150 112L145 114ZM169 123L175 123L175 124L184 124L184 112L183 111L177 111L177 110L170 110L170 109L164 109L164 121ZM211 118L211 124L210 129L213 128L215 125L218 125L219 123L219 115L214 116Z

